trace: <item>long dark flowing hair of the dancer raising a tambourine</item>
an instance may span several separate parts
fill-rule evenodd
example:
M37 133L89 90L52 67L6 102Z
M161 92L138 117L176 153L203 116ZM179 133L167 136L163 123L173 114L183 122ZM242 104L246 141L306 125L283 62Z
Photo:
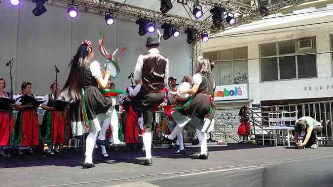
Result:
M88 45L86 43L81 44L72 61L68 65L71 68L64 88L61 90L61 95L68 96L74 101L81 100L81 89L85 79L85 71L88 67ZM92 49L91 49L92 51Z

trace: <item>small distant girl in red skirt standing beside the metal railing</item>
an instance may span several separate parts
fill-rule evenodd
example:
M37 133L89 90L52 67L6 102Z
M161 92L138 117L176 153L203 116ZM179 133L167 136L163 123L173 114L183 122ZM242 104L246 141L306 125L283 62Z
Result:
M248 115L248 107L242 106L239 110L239 122L241 123L238 126L237 134L239 136L239 143L244 143L247 141L248 136L250 135L250 123Z

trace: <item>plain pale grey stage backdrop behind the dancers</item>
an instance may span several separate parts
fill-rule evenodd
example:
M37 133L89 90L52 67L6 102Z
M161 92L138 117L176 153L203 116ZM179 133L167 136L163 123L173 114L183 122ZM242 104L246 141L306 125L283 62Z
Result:
M126 20L116 20L113 26L105 24L104 16L88 12L79 12L70 19L66 8L45 4L47 12L35 17L32 14L35 3L23 1L20 7L12 7L7 1L0 3L0 77L7 82L9 90L9 68L4 66L9 59L15 58L13 67L14 92L20 92L23 81L31 81L33 93L49 93L49 84L54 81L54 65L60 73L61 85L67 79L68 63L83 40L91 40L95 49L95 60L103 63L104 58L98 52L99 32L106 34L105 47L127 47L124 54L118 56L120 74L113 80L118 89L125 90L130 85L128 75L134 70L141 53L146 52L146 36L139 36L138 25ZM179 38L162 40L162 54L170 61L170 76L180 79L190 74L190 46L186 35Z

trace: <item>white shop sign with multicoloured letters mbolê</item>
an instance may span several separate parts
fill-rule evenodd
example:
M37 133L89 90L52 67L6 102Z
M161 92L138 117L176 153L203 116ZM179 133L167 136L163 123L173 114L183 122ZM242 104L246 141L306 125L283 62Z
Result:
M217 86L215 101L248 99L248 84Z

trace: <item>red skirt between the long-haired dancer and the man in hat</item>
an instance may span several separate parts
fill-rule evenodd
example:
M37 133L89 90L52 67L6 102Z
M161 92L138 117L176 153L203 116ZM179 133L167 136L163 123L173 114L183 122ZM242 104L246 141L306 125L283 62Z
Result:
M126 143L133 144L139 142L139 127L138 127L139 115L130 106L126 111L125 117L125 134L124 140Z

